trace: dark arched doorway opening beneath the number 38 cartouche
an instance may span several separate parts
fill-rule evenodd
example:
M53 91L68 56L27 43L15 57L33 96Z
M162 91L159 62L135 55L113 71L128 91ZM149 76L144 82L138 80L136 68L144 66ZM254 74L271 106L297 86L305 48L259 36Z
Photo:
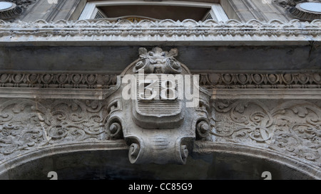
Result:
M74 145L73 145L74 146ZM257 157L250 156L251 148L230 149L226 145L211 144L213 151L207 153L195 149L185 165L177 164L131 164L128 150L123 144L77 145L53 147L16 158L6 163L1 179L43 179L49 180L48 173L55 171L59 180L64 179L112 179L112 180L263 180L262 173L269 171L272 179L314 179L312 168L296 163L292 166L286 158L272 156L262 151ZM108 149L106 147L109 146ZM104 147L104 148L103 148ZM219 149L221 148L221 149ZM223 148L223 149L222 149ZM214 151L214 149L216 151ZM225 150L224 150L225 149ZM67 151L70 150L70 151ZM200 152L198 152L200 151ZM243 152L244 151L244 152ZM242 153L243 152L243 153ZM2 170L4 165L2 165Z

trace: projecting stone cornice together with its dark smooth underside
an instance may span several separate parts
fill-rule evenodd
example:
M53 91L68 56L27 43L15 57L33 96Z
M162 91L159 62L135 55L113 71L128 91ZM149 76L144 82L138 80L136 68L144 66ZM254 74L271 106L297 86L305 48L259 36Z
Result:
M320 70L317 20L0 23L3 71L120 73L136 59L141 45L166 45L169 50L173 44L180 50L178 60L192 71Z

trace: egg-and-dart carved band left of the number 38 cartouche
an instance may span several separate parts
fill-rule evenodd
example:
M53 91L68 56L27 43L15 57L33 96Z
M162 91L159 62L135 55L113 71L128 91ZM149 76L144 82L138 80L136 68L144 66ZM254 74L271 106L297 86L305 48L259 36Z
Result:
M0 72L0 87L108 88L113 85L116 75Z

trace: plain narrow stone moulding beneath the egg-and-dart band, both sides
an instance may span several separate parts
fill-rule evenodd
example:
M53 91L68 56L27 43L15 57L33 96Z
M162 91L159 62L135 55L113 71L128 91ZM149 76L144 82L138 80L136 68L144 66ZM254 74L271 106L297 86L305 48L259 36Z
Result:
M0 98L97 99L111 90L0 87ZM212 99L321 99L321 89L209 89Z

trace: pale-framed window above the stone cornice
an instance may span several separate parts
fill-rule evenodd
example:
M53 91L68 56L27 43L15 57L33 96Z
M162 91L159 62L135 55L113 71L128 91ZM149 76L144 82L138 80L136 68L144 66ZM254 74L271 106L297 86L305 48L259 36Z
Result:
M193 19L205 21L227 21L220 4L200 3L192 1L91 1L88 2L79 19L108 18L111 21L129 19L183 21Z

